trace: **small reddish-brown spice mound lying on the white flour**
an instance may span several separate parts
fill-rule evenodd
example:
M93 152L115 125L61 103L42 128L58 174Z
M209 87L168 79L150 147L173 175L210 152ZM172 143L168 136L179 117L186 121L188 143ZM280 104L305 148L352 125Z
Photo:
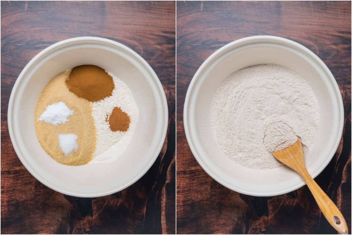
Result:
M110 130L112 131L127 131L130 128L131 119L119 107L114 107L110 116L106 115L107 122L109 122Z

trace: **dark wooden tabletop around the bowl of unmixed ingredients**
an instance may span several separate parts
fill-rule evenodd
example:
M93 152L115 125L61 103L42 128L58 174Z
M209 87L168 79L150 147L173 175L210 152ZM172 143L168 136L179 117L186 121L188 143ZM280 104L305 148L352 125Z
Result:
M110 196L77 198L36 180L7 129L14 82L38 52L63 39L97 36L127 45L155 70L169 129L150 170ZM175 2L1 1L1 233L175 233Z

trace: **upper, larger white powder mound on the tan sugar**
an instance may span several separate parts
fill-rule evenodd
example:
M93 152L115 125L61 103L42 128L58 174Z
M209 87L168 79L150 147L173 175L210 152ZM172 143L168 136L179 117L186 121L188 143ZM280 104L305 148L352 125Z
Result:
M48 105L38 120L50 123L54 126L65 123L68 117L73 115L73 110L69 110L63 102Z

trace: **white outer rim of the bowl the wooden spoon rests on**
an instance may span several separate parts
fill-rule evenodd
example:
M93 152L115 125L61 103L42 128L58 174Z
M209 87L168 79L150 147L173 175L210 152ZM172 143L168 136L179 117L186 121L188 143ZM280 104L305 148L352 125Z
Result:
M285 44L290 46L293 49L301 49L304 52L308 53L311 57L313 57L313 59L315 60L315 62L318 62L320 64L320 66L325 70L325 72L328 74L328 78L329 80L331 80L330 82L332 83L334 92L337 93L337 99L338 99L338 107L340 109L340 122L339 122L339 129L338 129L338 136L340 136L340 138L338 138L332 145L332 150L333 150L333 154L331 154L331 157L328 157L326 159L326 161L320 166L320 168L318 169L318 171L316 171L314 174L312 174L313 179L318 176L323 169L325 169L325 167L329 164L329 162L331 161L331 159L333 158L333 156L336 153L336 150L339 146L341 137L342 137L342 131L343 131L343 127L344 127L344 105L343 105L343 101L342 101L342 96L341 96L341 92L339 89L339 86L333 76L333 74L331 73L331 71L329 70L329 68L326 66L326 64L317 56L315 55L311 50L309 50L308 48L304 47L303 45L301 45L300 43L294 42L290 39L287 38L283 38L283 37L278 37L278 36L271 36L271 35L258 35L258 36L250 36L250 37L244 37L244 38L240 38L238 40L235 40L233 42L230 42L226 45L224 45L223 47L219 48L218 50L216 50L213 54L211 54L202 64L201 66L197 69L196 73L194 74L189 87L187 89L187 93L186 93L186 98L184 101L184 107L183 107L183 126L184 126L184 131L185 131L185 135L187 138L187 142L189 145L189 148L192 152L192 154L194 155L195 159L197 160L197 162L199 163L199 165L203 168L203 170L210 175L210 177L212 177L215 181L217 181L219 184L229 188L230 190L239 192L239 193L243 193L246 195L250 195L250 196L258 196L258 197L269 197L269 196L277 196L277 195L282 195L285 193L289 193L292 192L304 185L306 185L306 183L302 180L301 183L297 184L294 187L288 188L287 190L282 190L282 191L278 191L278 192L273 192L273 193L257 193L257 192L251 192L251 191L244 191L240 188L238 188L237 186L228 184L225 180L223 180L221 177L218 177L218 174L215 174L214 171L211 169L211 167L207 167L206 163L202 160L202 155L199 154L199 152L197 151L197 144L195 144L193 142L193 133L190 130L190 126L193 125L193 123L191 123L191 121L189 120L189 105L190 105L190 100L191 100L191 93L194 90L194 86L196 84L196 81L199 80L199 76L201 75L201 73L203 72L203 70L205 70L208 66L210 66L210 64L212 63L213 60L215 60L216 58L220 57L222 54L224 54L225 52L228 52L228 50L234 49L238 46L243 45L244 43L256 43L256 42L261 42L261 43L265 43L265 42L270 42L270 43L276 43L276 44ZM192 97L193 98L193 97Z

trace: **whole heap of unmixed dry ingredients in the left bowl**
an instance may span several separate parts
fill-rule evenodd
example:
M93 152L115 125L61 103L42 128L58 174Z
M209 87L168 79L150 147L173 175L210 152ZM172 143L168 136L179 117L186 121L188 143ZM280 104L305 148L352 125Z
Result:
M107 163L130 143L138 107L124 82L100 67L83 65L46 85L34 118L38 141L55 161L71 166Z

